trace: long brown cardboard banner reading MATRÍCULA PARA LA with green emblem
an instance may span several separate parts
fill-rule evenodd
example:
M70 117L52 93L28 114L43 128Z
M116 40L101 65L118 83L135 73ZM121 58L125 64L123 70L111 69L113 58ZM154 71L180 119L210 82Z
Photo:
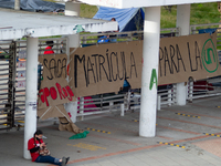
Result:
M161 39L158 84L220 75L215 48L217 33ZM70 86L76 97L118 92L125 79L131 89L141 87L143 41L71 49L71 52Z

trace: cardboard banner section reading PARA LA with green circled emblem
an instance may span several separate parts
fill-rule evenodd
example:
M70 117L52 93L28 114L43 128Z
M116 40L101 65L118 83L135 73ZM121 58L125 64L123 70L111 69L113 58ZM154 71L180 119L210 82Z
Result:
M201 80L221 74L217 33L164 38L159 48L159 84Z

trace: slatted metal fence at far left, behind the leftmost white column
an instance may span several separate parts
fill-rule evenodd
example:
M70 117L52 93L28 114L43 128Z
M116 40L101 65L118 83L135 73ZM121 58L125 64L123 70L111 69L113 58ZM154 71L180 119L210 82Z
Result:
M39 55L45 41L53 40L54 53L66 53L66 38L40 39ZM25 111L25 54L27 41L0 41L0 129L23 126ZM39 86L42 68L39 65ZM38 86L38 87L39 87Z

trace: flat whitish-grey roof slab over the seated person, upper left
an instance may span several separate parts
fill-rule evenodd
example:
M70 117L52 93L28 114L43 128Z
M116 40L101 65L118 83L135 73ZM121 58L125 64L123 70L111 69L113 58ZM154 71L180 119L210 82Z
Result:
M0 9L0 40L117 30L117 22Z

